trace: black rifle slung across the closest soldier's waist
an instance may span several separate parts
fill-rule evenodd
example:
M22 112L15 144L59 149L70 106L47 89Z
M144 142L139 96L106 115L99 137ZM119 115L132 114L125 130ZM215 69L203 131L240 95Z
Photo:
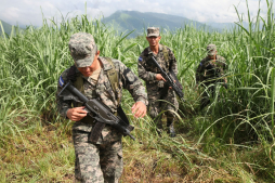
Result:
M89 142L95 143L99 140L101 131L105 127L105 123L110 125L123 135L129 135L132 140L135 140L134 136L130 134L130 131L132 131L134 128L129 125L127 117L126 122L120 117L115 116L110 112L110 109L100 100L88 100L77 88L71 84L70 81L68 81L66 86L62 89L62 91L58 93L58 97L65 90L69 91L69 94L64 95L64 100L73 100L75 102L82 103L83 106L86 106L84 110L88 112L88 115L96 120L96 123L92 128L91 134L89 135Z

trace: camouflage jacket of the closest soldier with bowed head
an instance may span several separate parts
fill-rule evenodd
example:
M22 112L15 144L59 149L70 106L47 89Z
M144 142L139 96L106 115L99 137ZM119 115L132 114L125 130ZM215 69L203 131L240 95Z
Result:
M84 95L88 99L92 99L92 95L95 92L96 96L100 97L101 101L105 105L107 105L113 113L116 113L119 104L106 74L106 70L112 68L112 64L108 63L108 61L106 61L104 57L100 57L100 60L103 64L103 68L100 73L97 83L95 86L92 84L91 78L80 75L83 78ZM127 89L131 93L135 102L141 101L145 105L147 105L148 103L147 94L145 92L145 88L143 87L141 80L120 61L118 60L112 60L112 61L115 64L116 70L118 73L118 78L119 78L119 91L117 92L117 95L121 96L122 89ZM61 75L65 82L67 81L68 71L69 71L69 68L63 71ZM61 90L62 88L58 84L57 93L60 93ZM63 101L63 97L56 97L56 102L57 102L57 107L58 107L58 112L61 116L66 117L67 110L71 108L73 101ZM87 121L80 120L74 123L73 129L90 132L93 126L94 126L94 121L87 122ZM99 139L97 144L101 144L107 141L108 142L117 141L120 138L121 138L120 133L118 133L110 126L106 125L102 131L102 136Z

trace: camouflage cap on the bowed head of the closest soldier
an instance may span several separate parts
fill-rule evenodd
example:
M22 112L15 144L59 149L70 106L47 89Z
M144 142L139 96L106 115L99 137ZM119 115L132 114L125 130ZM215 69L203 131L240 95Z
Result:
M87 32L74 34L69 39L69 51L77 67L92 65L97 51L93 36Z

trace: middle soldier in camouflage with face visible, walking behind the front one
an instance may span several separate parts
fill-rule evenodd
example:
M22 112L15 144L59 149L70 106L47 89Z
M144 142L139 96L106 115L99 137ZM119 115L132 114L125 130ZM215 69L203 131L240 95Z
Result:
M148 94L148 114L154 119L158 128L158 132L162 131L161 115L163 112L167 116L167 129L170 136L175 136L173 121L179 108L176 95L170 88L165 84L165 78L160 75L160 70L149 62L150 55L154 55L165 71L170 69L178 74L176 60L173 52L166 45L159 44L161 39L159 35L159 28L148 27L146 37L149 47L146 48L139 57L139 77L146 82L146 89Z

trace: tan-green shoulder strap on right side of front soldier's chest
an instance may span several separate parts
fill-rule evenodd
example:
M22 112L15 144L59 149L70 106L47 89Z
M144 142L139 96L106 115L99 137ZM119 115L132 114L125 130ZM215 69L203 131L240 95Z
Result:
M110 86L112 86L112 89L113 91L115 92L116 94L116 97L117 97L117 102L118 104L120 103L120 97L118 97L118 92L119 92L119 86L118 86L118 73L116 70L116 67L115 67L115 64L114 62L112 61L112 58L109 57L104 57L106 61L108 61L108 63L112 65L112 69L108 69L106 71L107 76L108 76L108 79L109 79L109 82L110 82Z

